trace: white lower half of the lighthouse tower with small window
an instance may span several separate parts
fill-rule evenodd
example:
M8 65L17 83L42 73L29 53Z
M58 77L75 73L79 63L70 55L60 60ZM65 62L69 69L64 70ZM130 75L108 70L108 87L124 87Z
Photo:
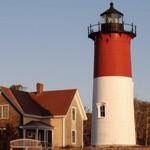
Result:
M97 77L93 92L92 145L135 145L132 78Z

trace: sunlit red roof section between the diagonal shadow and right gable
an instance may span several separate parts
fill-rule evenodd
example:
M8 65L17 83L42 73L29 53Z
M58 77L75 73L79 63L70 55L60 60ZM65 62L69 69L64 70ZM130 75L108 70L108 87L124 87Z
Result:
M47 109L52 115L66 115L76 89L59 90L59 91L46 91L40 95L30 93L32 98L40 104L43 108Z

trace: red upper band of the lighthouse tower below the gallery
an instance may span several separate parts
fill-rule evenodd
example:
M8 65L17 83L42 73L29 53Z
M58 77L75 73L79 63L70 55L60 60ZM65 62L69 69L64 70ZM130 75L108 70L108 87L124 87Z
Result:
M94 78L132 77L129 34L99 33L95 40Z

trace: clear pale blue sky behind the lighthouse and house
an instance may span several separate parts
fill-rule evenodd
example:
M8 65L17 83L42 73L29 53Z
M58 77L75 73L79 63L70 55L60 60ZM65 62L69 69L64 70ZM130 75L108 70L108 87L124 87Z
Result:
M135 92L150 100L150 1L113 0L124 21L137 25L132 41ZM91 109L94 44L87 27L110 0L0 0L0 85L34 91L78 88ZM108 91L109 92L109 91Z

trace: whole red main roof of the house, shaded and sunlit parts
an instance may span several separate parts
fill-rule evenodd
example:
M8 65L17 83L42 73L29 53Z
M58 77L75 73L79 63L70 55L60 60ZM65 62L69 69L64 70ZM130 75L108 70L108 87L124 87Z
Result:
M24 92L1 87L4 96L23 114L36 116L66 115L76 89Z

